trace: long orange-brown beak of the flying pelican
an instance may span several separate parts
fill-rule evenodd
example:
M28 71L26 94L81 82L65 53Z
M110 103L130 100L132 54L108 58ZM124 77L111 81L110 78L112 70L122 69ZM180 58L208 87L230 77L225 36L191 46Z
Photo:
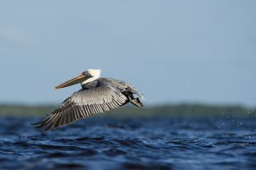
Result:
M64 83L60 84L59 86L55 86L56 89L60 89L67 86L72 86L74 84L82 83L83 81L91 78L91 74L82 72L81 74L78 74L76 77L73 77L72 79L69 79L68 81L65 81Z

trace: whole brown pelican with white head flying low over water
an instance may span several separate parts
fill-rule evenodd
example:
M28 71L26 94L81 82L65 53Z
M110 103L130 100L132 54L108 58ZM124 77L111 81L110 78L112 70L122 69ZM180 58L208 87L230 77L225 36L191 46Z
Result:
M118 106L130 102L138 108L143 108L139 98L143 98L133 85L126 81L110 78L99 78L101 69L87 69L85 72L65 81L55 89L72 86L81 83L82 89L74 92L63 103L53 111L48 118L31 125L39 125L35 128L45 128L44 132L62 125L73 123L75 120L87 118L97 113L103 113Z

